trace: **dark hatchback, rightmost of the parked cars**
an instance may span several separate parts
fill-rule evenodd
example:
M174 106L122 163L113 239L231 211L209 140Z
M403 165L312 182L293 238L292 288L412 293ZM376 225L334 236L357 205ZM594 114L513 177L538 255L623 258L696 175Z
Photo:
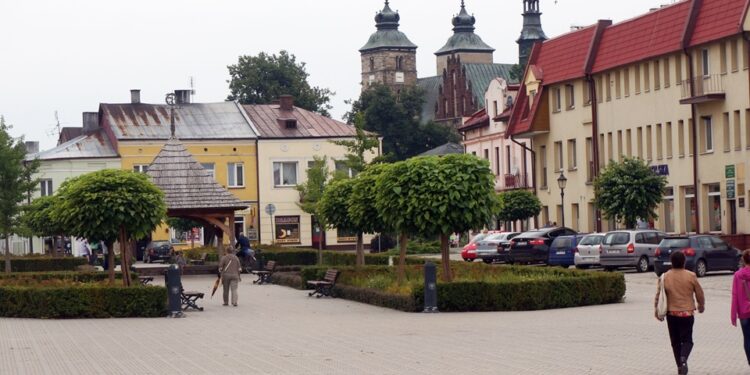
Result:
M667 237L655 251L654 272L661 276L672 268L670 256L675 251L685 254L685 268L703 277L709 271L737 271L743 267L742 252L709 235Z

